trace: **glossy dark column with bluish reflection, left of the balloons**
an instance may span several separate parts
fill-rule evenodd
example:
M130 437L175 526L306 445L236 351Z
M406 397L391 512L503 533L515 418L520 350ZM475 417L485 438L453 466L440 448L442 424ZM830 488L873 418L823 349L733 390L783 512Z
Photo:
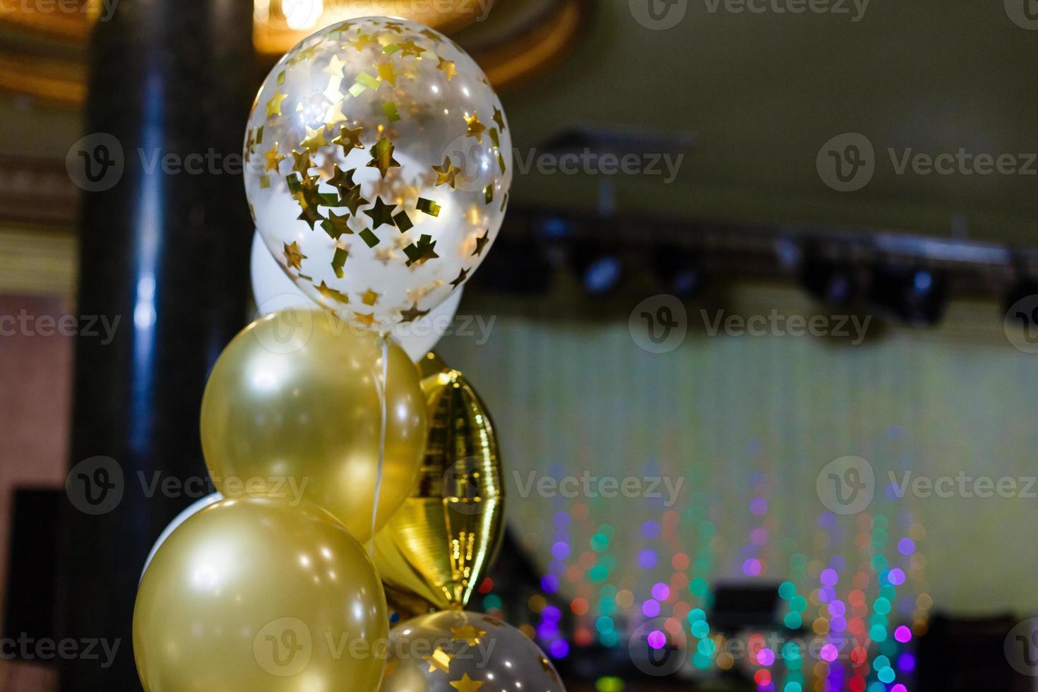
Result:
M85 132L111 137L73 153L92 167L86 187L102 188L83 193L78 310L119 322L110 343L78 340L71 461L118 469L97 461L70 477L60 625L119 647L108 668L66 661L63 690L140 689L140 570L198 490L148 486L206 477L206 377L246 317L252 224L238 157L258 85L251 36L251 0L120 0L92 36ZM118 502L92 514L105 498Z

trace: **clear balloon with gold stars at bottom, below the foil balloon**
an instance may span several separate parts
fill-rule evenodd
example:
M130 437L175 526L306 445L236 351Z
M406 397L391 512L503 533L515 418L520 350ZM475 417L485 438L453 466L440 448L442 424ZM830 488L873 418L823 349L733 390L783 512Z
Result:
M382 692L566 692L554 666L519 630L447 610L389 632Z

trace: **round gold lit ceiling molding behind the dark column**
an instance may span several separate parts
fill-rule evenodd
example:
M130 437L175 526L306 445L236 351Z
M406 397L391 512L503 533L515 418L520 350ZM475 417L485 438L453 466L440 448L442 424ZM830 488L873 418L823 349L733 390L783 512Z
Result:
M0 90L73 108L82 105L86 41L93 21L111 1L0 0ZM593 0L293 0L282 5L284 1L254 0L253 43L265 62L317 27L392 15L456 36L498 90L542 74L573 50L593 5ZM299 16L300 7L309 15ZM4 39L4 32L17 40Z

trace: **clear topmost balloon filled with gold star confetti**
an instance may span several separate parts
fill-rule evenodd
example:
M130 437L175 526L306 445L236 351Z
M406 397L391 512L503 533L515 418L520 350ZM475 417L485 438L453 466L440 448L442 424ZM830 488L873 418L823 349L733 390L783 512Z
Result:
M420 24L371 17L292 49L256 95L245 189L300 288L380 332L436 308L496 240L512 136L471 57ZM368 292L368 305L344 297ZM416 296L420 296L415 300Z

